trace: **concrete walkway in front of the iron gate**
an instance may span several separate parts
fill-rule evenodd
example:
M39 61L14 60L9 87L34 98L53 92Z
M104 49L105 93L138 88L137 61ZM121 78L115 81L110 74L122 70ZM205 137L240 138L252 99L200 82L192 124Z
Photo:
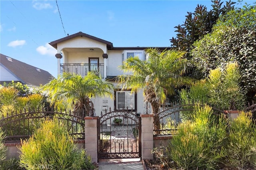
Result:
M140 158L105 159L98 163L99 170L144 170Z

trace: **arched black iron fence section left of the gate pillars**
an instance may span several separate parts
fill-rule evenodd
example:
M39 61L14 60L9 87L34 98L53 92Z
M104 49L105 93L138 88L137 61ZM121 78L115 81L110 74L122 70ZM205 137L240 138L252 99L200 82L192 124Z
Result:
M52 111L37 109L11 112L0 119L0 127L5 131L5 142L20 142L29 138L47 119L57 118L59 126L67 129L73 139L84 139L84 118L73 115L71 111Z

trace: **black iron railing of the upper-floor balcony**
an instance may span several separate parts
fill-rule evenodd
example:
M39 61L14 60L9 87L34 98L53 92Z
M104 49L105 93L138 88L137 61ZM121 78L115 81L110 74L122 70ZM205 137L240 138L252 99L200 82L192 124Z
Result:
M87 75L89 71L98 71L104 77L104 64L89 64L89 63L66 63L60 64L60 73L68 72L80 74L81 76Z

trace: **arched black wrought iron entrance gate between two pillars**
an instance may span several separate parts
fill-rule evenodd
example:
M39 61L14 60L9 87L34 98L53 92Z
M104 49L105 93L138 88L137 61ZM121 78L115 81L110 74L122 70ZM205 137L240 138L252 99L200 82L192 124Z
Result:
M98 119L98 142L99 159L140 158L140 115L111 109L108 113L101 113Z

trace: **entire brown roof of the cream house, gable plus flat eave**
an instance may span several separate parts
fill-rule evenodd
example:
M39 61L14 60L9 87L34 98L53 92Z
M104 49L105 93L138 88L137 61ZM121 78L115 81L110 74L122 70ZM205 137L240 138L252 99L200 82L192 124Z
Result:
M102 40L100 38L97 38L97 37L94 37L94 36L91 36L89 34L85 34L83 32L78 32L76 34L72 34L70 36L66 36L64 38L60 38L58 40L55 40L53 42L50 42L49 44L52 45L52 47L54 47L55 49L57 49L57 44L60 43L60 42L64 42L66 40L69 40L71 38L75 38L75 37L78 37L78 36L83 36L83 37L86 37L86 38L90 38L92 40L96 40L98 42L102 42L102 43L105 43L107 45L107 48L108 49L112 49L112 50L122 50L122 49L147 49L148 47L113 47L113 43L112 42L108 42L106 40ZM150 47L150 48L156 48L156 47ZM164 49L171 49L171 47L157 47L158 49L160 50L164 50Z

